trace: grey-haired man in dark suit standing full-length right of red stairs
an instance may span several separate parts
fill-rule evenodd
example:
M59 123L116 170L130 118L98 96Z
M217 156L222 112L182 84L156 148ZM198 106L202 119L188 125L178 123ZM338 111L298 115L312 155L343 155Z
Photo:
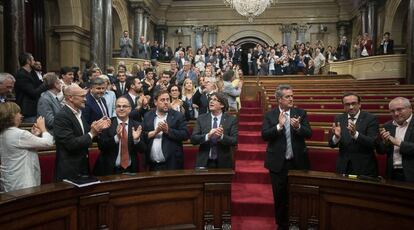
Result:
M309 169L305 138L312 136L306 112L293 107L289 85L276 89L279 106L264 115L262 138L267 141L265 167L272 180L278 229L288 229L287 174L290 169Z

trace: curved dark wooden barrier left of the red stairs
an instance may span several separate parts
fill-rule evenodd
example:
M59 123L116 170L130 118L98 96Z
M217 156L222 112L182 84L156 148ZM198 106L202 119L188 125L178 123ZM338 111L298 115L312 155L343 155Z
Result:
M231 227L232 170L177 170L54 183L0 194L0 229ZM214 226L214 227L213 227Z

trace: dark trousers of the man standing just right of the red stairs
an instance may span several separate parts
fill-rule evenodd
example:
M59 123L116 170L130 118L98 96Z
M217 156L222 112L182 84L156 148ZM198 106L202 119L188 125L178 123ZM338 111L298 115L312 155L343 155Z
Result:
M282 170L280 172L269 171L272 181L273 199L275 202L275 218L278 225L278 230L288 229L288 200L289 195L287 191L288 185L288 171L294 169L292 160L285 160Z

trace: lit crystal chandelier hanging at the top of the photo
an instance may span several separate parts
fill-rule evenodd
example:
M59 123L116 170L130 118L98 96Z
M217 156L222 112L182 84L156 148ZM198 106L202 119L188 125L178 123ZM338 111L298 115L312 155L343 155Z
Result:
M249 22L253 22L253 18L262 14L274 0L224 0L226 5L234 8L237 13L247 17Z

